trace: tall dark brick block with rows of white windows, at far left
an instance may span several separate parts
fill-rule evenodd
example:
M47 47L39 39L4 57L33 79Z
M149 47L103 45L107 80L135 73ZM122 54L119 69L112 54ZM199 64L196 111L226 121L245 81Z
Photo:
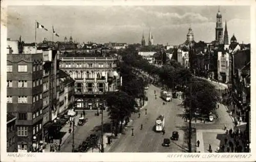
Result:
M59 89L57 51L8 40L7 112L17 118L17 151L36 151L57 117Z

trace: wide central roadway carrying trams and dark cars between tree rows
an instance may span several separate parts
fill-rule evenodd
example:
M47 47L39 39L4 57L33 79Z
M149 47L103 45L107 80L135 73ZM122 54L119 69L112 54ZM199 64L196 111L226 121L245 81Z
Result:
M156 90L157 99L154 96ZM172 102L163 105L163 100L159 98L160 88L153 85L149 86L147 91L148 103L141 110L141 116L133 115L133 123L126 130L126 133L121 135L110 148L109 152L185 152L183 147L183 134L185 126L184 120L179 116L183 108L180 106L181 100L173 99ZM147 109L147 115L145 115ZM155 132L154 126L158 115L163 114L165 117L165 134ZM143 124L143 129L140 130L140 125ZM132 136L132 128L134 128L134 137ZM170 138L173 131L179 132L179 140L171 142L169 147L163 147L164 138Z

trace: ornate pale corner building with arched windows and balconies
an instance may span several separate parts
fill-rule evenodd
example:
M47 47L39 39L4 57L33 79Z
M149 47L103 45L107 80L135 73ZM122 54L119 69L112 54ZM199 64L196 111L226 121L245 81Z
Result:
M60 69L75 80L78 110L105 109L104 93L119 89L121 78L115 54L69 53L59 55Z

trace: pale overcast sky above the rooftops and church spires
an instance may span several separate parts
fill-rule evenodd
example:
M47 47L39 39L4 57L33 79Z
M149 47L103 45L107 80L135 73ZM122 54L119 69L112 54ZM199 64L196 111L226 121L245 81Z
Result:
M229 40L250 42L250 7L221 6L223 28L227 20ZM35 40L35 20L49 31L37 29L37 42L52 40L52 25L63 41L72 35L82 42L140 43L142 32L148 41L151 28L154 43L183 43L189 25L195 41L215 39L218 6L9 6L8 37L25 42ZM224 30L223 30L224 33Z

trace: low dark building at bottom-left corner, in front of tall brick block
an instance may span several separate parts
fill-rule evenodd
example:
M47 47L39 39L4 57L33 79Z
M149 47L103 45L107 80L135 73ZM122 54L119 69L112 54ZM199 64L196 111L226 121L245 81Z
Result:
M17 131L16 131L16 117L7 114L7 152L17 152L17 145L16 145L16 137L17 137ZM24 147L23 147L24 148Z

